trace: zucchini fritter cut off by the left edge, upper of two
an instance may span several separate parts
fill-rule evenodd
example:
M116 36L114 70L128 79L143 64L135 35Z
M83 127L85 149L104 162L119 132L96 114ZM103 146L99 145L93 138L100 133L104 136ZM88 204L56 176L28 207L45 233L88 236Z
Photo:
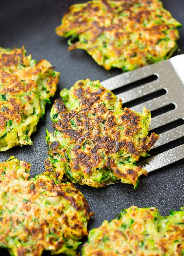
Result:
M32 60L24 47L0 47L0 151L33 144L45 105L54 96L59 72L47 60Z

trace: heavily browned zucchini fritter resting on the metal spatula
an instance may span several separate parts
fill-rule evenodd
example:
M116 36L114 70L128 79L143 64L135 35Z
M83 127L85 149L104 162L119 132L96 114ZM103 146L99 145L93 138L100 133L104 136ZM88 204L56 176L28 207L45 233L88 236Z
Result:
M100 187L112 178L136 188L138 177L147 175L136 161L147 156L158 139L155 133L147 136L150 111L122 108L110 90L89 79L64 89L61 96L64 102L55 100L51 110L56 130L46 130L46 169L54 170L59 179L65 174L74 183Z

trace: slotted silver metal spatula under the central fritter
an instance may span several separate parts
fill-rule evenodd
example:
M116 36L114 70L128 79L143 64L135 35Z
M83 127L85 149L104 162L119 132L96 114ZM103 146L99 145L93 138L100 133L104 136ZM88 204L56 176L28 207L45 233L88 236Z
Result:
M152 82L146 82L149 80ZM132 85L135 87L135 83L139 85L127 90ZM151 112L157 113L158 115L152 118L150 130L155 131L159 127L167 126L167 131L162 131L159 134L159 139L149 154L153 148L158 149L166 143L173 142L174 147L139 162L138 166L141 165L151 172L184 158L184 144L181 144L181 141L179 146L174 144L174 141L184 136L184 54L117 75L101 84L114 93L119 89L124 90L125 92L116 94L118 98L122 99L124 107L131 105L132 110L142 112L143 106L145 106ZM134 103L136 104L142 99L143 103L134 106ZM172 128L173 124L174 128ZM154 151L157 150L154 149ZM113 183L114 181L110 181L107 185Z

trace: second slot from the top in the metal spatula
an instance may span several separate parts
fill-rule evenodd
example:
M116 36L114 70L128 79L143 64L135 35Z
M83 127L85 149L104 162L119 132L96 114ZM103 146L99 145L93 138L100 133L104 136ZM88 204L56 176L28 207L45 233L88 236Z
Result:
M130 100L129 102L124 103L123 107L131 108L133 106L136 106L136 105L146 102L148 100L152 100L156 97L160 97L166 93L167 93L166 89L160 89L160 90L157 90L156 92L148 93L148 94L146 94L142 97L139 97L137 99Z

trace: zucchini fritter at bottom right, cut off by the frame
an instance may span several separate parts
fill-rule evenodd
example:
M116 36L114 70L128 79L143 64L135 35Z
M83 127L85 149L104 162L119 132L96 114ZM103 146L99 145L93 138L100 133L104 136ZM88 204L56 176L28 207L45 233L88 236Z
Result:
M184 255L184 207L164 217L154 207L132 206L89 232L82 256L116 255Z

